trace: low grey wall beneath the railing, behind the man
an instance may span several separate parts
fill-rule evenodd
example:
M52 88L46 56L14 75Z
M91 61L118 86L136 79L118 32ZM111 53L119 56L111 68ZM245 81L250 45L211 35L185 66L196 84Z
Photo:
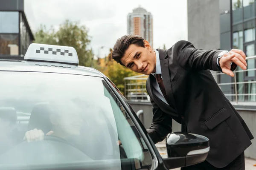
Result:
M152 123L152 106L151 103L139 103L139 102L130 102L131 107L134 109L135 112L139 110L143 110L143 119L141 121L143 122L143 125L145 128L150 127ZM256 111L244 111L244 110L237 110L241 117L244 119L245 123L249 127L250 131L253 133L253 136L256 138ZM177 132L181 131L181 125L172 121L172 131ZM245 156L247 158L253 158L256 159L256 139L252 140L252 145L245 150Z

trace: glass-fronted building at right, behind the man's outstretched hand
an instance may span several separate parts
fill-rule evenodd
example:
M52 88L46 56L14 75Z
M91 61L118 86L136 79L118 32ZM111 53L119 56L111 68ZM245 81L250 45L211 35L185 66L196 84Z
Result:
M255 0L219 0L221 49L244 51L247 71L237 68L236 77L218 73L217 82L230 101L256 101Z

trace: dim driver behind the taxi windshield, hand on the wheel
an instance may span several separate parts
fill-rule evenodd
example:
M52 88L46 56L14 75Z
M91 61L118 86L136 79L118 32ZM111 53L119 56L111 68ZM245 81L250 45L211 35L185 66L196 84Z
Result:
M122 148L115 143L112 145L113 129L108 128L111 123L107 119L104 110L90 101L38 105L32 110L29 119L30 130L25 133L23 139L34 142L54 136L64 139L91 159L109 159L111 156L120 156ZM102 154L97 154L96 150ZM114 150L117 152L113 153ZM126 157L123 150L122 156Z

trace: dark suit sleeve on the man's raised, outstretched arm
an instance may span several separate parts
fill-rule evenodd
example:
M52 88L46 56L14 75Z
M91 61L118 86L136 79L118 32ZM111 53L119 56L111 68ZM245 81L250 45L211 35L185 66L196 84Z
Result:
M218 54L223 50L201 50L196 49L191 42L178 41L173 48L174 56L177 57L181 67L188 70L213 70L221 71L221 67L217 65ZM235 63L233 63L235 64ZM232 67L231 70L235 70Z

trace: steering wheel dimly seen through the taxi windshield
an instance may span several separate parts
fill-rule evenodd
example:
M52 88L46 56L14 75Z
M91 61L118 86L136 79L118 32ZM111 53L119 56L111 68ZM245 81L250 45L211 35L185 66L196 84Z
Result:
M42 162L55 164L84 160L91 158L80 150L79 146L56 136L44 136L44 140L35 142L23 140L0 154L0 164L41 164Z

